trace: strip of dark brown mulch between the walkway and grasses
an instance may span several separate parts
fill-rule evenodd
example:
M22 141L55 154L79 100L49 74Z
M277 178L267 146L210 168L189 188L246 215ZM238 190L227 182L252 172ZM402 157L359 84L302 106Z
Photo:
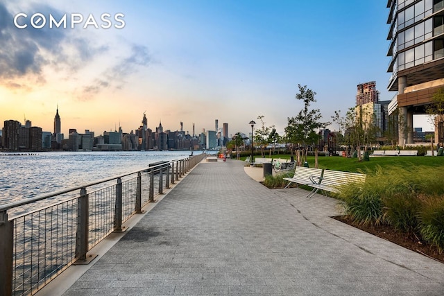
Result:
M424 243L420 241L416 236L409 236L402 232L398 232L390 225L381 225L378 227L364 226L353 222L347 216L336 216L333 218L341 221L342 223L346 223L358 229L364 230L364 232L368 232L369 234L384 238L386 241L391 241L392 243L444 263L444 252L439 254L438 247L434 247L432 245Z

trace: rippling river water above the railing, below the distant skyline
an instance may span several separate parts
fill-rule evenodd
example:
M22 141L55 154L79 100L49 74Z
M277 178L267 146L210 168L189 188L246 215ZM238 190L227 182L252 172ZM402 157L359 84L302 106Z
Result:
M195 153L196 154L196 153ZM0 205L148 168L189 151L0 154Z

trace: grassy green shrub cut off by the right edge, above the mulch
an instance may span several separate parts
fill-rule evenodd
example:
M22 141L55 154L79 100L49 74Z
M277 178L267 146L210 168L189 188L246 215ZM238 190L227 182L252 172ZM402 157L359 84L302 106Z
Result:
M444 250L444 198L432 195L422 200L418 214L419 232L422 239Z

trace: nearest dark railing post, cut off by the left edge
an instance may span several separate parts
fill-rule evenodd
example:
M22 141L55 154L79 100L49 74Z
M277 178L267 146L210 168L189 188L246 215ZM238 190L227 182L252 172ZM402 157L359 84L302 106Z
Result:
M0 212L0 295L12 295L12 254L14 221L8 221L7 211Z

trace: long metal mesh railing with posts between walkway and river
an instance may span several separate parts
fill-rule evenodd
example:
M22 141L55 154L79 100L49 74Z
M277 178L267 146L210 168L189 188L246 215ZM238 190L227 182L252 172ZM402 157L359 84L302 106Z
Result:
M0 295L33 295L70 265L89 263L92 247L122 232L123 223L205 156L0 206ZM25 205L33 210L20 212Z

